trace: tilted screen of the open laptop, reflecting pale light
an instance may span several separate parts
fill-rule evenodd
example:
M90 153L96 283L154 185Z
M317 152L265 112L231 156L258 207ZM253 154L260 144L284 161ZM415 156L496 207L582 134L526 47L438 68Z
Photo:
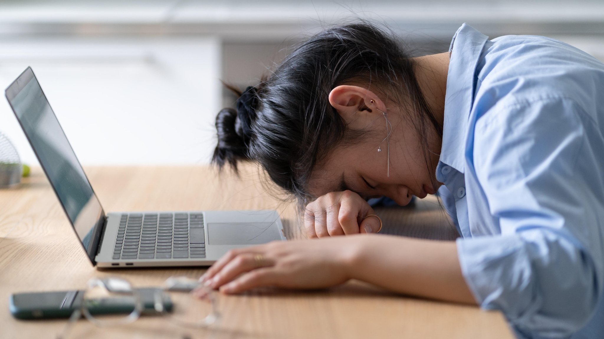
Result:
M94 264L103 208L31 68L7 88L6 97Z

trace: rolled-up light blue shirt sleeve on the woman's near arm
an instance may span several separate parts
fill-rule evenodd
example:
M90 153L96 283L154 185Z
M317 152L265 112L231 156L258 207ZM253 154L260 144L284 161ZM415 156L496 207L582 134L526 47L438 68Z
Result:
M599 157L589 119L572 100L541 98L498 103L475 124L470 157L501 235L458 239L458 256L477 302L519 333L567 337L602 291L604 204L592 193L603 169L583 173Z

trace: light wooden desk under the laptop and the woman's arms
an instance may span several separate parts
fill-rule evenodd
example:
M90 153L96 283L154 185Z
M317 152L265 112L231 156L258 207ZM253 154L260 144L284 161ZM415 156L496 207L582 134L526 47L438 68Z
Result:
M86 168L105 211L277 208L288 238L300 237L293 204L280 202L259 185L258 171L237 179L204 166ZM265 180L264 180L265 181ZM18 321L8 296L19 291L68 290L93 276L119 275L135 286L159 285L173 275L198 277L204 268L96 270L71 230L39 168L18 189L0 190L0 337L54 338L65 320ZM434 200L414 208L379 211L385 230L450 238L451 226ZM406 228L393 227L394 219ZM448 227L448 228L447 228ZM444 231L443 231L444 230ZM321 291L261 290L220 296L224 314L215 331L175 328L161 317L143 317L119 335L84 320L74 329L86 338L493 338L510 339L498 312L399 296L360 282ZM126 333L126 334L124 334Z

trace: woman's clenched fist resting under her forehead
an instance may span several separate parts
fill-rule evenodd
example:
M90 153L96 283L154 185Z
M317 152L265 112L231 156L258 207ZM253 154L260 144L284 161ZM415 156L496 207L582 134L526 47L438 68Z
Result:
M329 192L306 206L304 228L309 238L375 233L379 220L370 214L373 208L355 192Z

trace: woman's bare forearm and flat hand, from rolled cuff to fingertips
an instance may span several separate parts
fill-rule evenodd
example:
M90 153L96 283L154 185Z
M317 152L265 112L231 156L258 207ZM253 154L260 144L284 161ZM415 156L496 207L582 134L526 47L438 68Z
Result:
M223 293L256 287L326 288L358 279L397 293L476 304L454 241L336 236L231 250L202 276ZM199 296L204 289L194 292Z

